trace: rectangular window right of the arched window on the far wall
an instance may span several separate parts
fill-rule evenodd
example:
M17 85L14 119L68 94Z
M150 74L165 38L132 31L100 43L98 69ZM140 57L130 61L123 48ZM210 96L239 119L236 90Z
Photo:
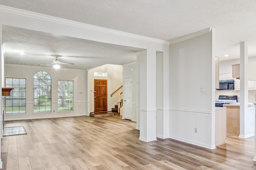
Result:
M73 111L74 81L58 81L58 111Z

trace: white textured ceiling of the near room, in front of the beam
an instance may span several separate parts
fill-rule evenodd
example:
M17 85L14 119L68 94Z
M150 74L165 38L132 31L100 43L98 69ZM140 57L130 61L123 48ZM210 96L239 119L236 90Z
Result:
M1 0L0 4L167 41L211 27L216 30L214 52L221 60L239 58L243 41L248 42L248 55L256 56L255 0Z

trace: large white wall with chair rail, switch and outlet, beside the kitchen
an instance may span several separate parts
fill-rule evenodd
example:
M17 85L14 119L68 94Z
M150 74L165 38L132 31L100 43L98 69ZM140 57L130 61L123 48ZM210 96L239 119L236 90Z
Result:
M212 36L210 32L169 49L170 138L206 148L215 147ZM201 87L204 92L200 92Z

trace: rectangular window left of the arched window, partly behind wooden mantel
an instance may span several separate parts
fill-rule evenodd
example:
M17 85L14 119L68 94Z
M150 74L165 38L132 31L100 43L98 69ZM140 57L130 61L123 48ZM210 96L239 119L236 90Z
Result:
M14 88L6 96L5 113L26 113L26 79L6 78L5 87Z

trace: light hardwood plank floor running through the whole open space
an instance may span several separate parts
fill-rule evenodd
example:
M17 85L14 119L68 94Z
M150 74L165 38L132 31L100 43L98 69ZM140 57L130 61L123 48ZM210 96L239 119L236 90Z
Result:
M28 134L4 136L4 170L256 169L254 137L228 135L213 150L172 139L143 142L136 123L119 115L5 122L14 126Z

